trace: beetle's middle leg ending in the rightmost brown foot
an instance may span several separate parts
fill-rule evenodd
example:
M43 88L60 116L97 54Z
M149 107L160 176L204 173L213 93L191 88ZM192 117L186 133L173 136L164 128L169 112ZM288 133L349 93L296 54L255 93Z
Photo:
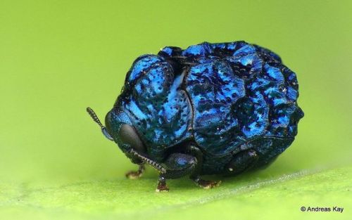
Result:
M187 147L187 153L196 157L197 164L194 172L191 174L190 178L196 183L197 186L201 188L214 188L215 186L219 186L221 181L208 181L200 178L199 174L201 174L201 168L203 164L203 153L199 148L195 145L189 145Z

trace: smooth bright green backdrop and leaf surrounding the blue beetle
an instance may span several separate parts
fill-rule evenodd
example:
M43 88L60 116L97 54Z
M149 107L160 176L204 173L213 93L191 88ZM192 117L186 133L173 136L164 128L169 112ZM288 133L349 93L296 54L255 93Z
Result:
M0 1L0 218L351 219L351 1ZM103 119L133 60L163 46L246 40L278 53L306 116L271 167L155 193ZM343 213L301 206L344 207ZM349 217L349 218L348 218Z

